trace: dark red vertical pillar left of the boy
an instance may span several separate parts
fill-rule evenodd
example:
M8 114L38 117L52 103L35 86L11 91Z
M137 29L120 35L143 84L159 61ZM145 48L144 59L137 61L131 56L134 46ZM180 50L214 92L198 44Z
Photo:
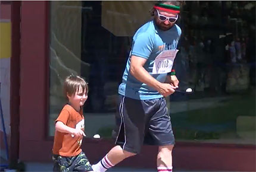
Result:
M45 149L46 79L49 66L46 2L21 3L20 158L40 155ZM46 150L46 149L45 149ZM43 151L47 152L47 151ZM43 157L44 155L42 155Z

